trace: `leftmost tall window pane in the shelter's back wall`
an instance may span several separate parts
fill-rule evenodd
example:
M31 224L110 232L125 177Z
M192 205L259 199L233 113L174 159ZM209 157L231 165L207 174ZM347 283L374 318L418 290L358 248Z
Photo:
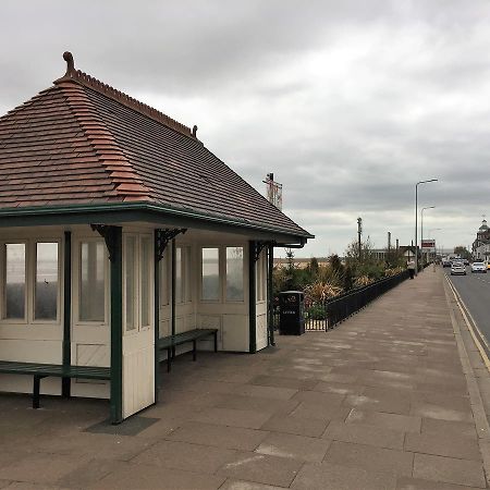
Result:
M25 318L25 244L5 244L4 317Z

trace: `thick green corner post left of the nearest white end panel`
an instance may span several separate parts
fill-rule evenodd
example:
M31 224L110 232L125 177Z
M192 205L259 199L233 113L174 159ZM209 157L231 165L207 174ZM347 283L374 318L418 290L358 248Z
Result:
M111 226L111 422L122 416L122 228Z

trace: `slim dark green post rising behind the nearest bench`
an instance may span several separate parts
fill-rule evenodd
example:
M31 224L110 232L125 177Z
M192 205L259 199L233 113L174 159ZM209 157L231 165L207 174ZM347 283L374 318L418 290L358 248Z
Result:
M63 367L72 364L72 232L64 232L64 264L63 264ZM65 399L71 394L70 378L61 380L61 395Z

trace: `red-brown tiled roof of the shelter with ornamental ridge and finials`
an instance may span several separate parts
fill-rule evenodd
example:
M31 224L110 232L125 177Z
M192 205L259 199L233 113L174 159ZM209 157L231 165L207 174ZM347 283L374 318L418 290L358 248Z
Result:
M0 118L0 208L147 201L308 233L196 130L76 71Z

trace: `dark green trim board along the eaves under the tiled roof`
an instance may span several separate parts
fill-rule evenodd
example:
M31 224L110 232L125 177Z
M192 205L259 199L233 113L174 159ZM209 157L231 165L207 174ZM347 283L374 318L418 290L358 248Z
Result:
M36 206L0 209L0 228L135 221L155 224L164 223L200 230L219 230L245 235L252 234L257 238L273 238L278 244L304 245L308 238L314 237L306 231L304 233L292 233L290 230L279 226L266 226L220 215L196 212L149 203Z

